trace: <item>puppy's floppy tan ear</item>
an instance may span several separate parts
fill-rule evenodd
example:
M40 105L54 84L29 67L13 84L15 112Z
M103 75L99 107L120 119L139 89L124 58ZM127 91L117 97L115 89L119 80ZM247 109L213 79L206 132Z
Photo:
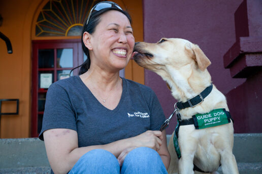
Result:
M198 63L200 70L204 71L211 64L210 60L198 45L188 42L186 43L186 50L190 50L190 56Z

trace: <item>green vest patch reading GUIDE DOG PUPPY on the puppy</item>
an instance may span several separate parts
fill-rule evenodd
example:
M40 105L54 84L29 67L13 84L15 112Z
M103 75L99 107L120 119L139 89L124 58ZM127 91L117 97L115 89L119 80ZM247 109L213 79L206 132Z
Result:
M213 127L231 122L231 115L225 109L214 109L208 113L192 116L195 129Z

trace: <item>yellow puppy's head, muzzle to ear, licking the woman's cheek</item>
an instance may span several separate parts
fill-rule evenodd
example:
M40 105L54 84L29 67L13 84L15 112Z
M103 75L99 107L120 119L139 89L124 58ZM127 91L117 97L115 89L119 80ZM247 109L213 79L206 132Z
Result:
M194 63L204 71L210 60L203 51L188 40L180 38L161 38L156 43L137 42L135 44L135 61L142 67L157 71L167 65L183 67Z

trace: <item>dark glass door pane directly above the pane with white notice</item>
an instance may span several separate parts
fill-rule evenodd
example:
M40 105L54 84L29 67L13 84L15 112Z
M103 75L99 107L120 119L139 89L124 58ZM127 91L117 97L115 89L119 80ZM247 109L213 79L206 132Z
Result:
M45 49L38 50L38 67L53 68L54 67L54 50Z

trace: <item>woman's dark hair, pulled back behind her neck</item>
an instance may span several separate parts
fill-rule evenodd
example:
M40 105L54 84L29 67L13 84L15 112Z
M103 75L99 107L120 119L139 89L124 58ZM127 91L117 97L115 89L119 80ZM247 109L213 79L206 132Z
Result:
M87 19L86 19L84 24L83 24L83 27L82 27L81 43L82 43L83 52L85 53L87 59L84 61L84 63L82 65L80 65L81 68L80 68L79 73L78 73L79 75L85 73L89 69L90 63L91 63L91 60L90 60L90 57L89 57L89 51L85 47L85 44L83 42L83 34L84 34L85 31L87 31L89 34L92 34L95 30L95 27L100 22L101 15L105 12L110 11L110 10L116 10L116 11L123 13L128 18L130 24L132 23L132 19L131 19L130 15L127 11L123 11L123 10L120 10L120 9L117 9L117 8L106 8L106 9L102 9L100 11L93 11L91 16L90 16L90 19L88 21L88 24L86 25L86 22L87 22ZM78 66L78 67L80 67L80 66ZM73 68L71 70L71 72L78 67ZM70 72L70 74L71 74L71 72Z

